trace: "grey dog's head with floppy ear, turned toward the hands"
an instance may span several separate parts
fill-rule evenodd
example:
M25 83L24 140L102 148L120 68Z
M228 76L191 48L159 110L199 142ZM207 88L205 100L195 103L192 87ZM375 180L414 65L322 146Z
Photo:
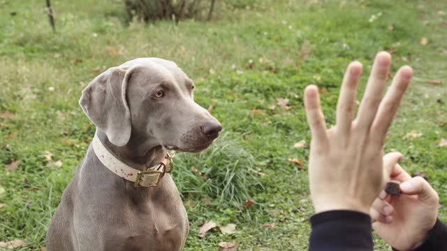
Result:
M82 91L80 106L116 146L129 140L203 151L221 124L194 102L194 83L172 61L141 58L110 68Z

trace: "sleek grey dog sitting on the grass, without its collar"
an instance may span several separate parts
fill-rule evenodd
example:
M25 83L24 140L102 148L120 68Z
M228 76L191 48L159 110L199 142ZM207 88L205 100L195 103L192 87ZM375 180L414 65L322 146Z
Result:
M167 149L199 152L219 136L221 124L194 102L194 88L174 62L141 58L98 75L79 103L98 142L125 165L146 170L163 163ZM47 250L182 250L189 222L170 174L163 172L156 188L135 187L95 151L90 145L64 191Z

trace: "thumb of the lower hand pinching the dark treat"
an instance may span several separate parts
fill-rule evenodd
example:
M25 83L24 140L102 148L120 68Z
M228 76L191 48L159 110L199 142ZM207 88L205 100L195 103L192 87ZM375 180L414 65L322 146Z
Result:
M437 204L439 203L437 192L420 176L416 176L400 184L400 190L405 195L418 195L421 201L436 201Z

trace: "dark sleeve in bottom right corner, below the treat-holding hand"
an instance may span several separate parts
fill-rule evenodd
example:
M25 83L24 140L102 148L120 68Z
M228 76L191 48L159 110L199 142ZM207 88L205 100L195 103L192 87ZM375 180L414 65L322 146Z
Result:
M393 250L396 250L393 248ZM437 220L430 230L427 240L414 251L446 251L447 250L447 226Z

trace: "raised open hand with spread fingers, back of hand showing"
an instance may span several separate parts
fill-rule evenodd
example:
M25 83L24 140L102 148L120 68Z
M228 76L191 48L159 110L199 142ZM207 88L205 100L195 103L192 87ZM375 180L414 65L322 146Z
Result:
M353 62L348 66L337 104L337 123L329 130L321 112L318 89L307 86L305 107L312 132L309 185L316 213L369 213L391 169L402 158L400 153L390 153L385 157L390 164L384 165L383 144L413 70L409 66L400 68L383 96L390 66L390 54L377 54L355 120L362 64Z

